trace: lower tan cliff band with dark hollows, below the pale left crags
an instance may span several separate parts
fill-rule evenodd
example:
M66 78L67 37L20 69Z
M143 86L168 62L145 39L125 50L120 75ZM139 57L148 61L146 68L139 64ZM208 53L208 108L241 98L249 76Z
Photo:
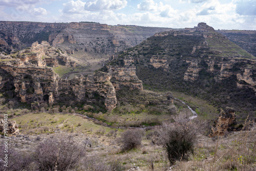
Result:
M109 73L97 72L72 80L61 79L51 68L13 67L2 65L13 77L16 96L21 102L48 102L50 105L67 96L70 101L93 101L95 96L104 98L106 109L116 107L115 88Z

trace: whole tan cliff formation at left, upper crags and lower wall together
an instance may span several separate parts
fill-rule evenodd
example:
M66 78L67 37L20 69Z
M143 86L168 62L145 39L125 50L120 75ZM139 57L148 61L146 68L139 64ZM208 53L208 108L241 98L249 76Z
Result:
M96 72L86 77L61 79L51 67L74 66L75 62L44 41L4 57L8 59L1 59L1 88L4 89L8 82L8 91L13 87L21 102L47 102L52 105L58 101L96 102L103 98L105 108L112 110L117 103L116 90L124 87L142 90L142 81L136 76L134 67L116 67L110 68L109 73Z

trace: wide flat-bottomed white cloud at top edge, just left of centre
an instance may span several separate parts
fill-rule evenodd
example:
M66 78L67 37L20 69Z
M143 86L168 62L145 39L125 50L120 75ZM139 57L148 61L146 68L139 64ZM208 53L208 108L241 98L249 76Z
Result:
M90 0L84 6L84 10L120 10L127 5L126 0Z

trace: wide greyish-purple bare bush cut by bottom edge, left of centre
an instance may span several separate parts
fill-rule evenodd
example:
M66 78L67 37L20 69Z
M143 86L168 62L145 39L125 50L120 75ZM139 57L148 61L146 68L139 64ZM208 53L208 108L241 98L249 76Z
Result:
M38 170L67 170L79 163L82 148L67 137L47 139L35 151L34 161Z

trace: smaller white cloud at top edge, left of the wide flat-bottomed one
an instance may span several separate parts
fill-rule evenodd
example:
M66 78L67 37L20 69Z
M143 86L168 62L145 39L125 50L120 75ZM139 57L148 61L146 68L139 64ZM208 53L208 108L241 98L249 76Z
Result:
M66 4L63 4L64 8L62 10L63 13L77 13L81 14L84 13L84 5L86 3L78 0L78 1L70 1Z

